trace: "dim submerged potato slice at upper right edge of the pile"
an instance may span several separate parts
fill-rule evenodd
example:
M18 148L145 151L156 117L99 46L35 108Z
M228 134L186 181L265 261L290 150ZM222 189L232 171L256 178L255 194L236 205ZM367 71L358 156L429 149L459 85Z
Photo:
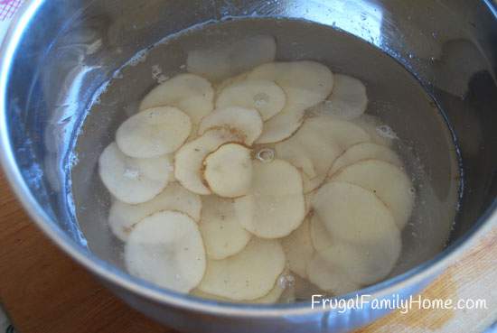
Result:
M314 107L317 113L351 120L361 116L368 106L366 87L359 79L348 75L333 76L333 92L328 100Z

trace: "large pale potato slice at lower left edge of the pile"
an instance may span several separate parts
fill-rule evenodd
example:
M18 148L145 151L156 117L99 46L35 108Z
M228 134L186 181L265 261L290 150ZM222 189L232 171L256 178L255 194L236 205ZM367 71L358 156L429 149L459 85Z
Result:
M173 291L191 291L206 268L199 228L179 212L145 217L129 234L125 262L136 277Z

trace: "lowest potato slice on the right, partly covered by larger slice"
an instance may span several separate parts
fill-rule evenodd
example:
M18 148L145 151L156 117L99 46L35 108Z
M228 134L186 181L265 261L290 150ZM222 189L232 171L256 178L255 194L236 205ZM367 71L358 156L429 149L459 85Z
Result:
M345 273L353 282L371 284L386 278L399 259L401 240L397 234L370 245L334 241L320 252L324 260Z

